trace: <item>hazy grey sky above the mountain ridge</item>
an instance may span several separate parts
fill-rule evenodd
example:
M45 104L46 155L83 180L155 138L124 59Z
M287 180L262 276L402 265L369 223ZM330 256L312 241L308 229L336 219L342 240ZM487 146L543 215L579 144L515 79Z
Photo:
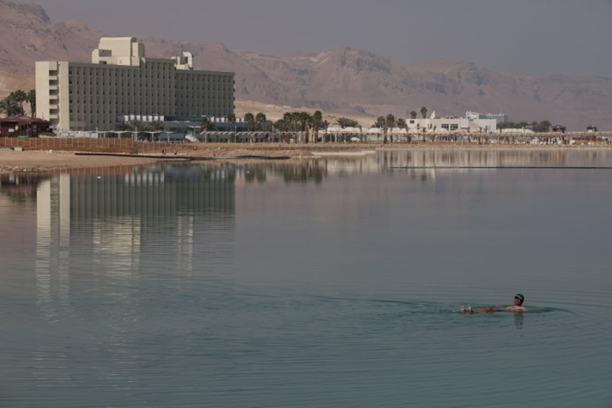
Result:
M267 54L360 48L524 75L612 77L612 0L34 0L108 35Z

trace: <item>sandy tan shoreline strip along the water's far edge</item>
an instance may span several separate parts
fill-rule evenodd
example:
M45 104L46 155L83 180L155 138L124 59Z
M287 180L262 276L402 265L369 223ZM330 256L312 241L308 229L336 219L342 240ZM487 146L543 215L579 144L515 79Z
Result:
M152 146L155 147L155 146ZM322 157L362 157L377 151L393 150L612 150L610 144L465 144L465 143L395 143L395 144L344 144L318 143L304 145L285 144L228 144L200 143L179 145L181 150L174 154L162 155L149 152L117 154L110 151L73 150L13 150L0 148L0 172L45 172L83 168L104 168L116 166L151 165L163 161L192 160L271 160L271 159L312 159Z

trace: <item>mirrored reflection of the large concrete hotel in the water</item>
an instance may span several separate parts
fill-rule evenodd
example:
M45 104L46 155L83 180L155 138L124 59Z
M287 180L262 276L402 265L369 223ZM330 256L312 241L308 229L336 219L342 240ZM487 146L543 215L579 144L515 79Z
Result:
M211 272L233 258L234 174L224 168L62 174L39 182L36 204L39 300L51 292L61 299L70 276L85 272L73 262L83 256L94 269L86 272L101 264L129 279L160 267ZM163 265L149 263L160 254Z

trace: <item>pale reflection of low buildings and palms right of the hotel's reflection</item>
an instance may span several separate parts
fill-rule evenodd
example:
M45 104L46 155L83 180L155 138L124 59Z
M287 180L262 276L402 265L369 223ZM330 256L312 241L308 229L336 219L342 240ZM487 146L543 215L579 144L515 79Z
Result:
M410 149L323 156L299 161L223 163L223 166L234 168L236 177L245 183L280 179L320 184L326 177L335 175L405 171L412 179L427 181L436 178L436 171L447 168L457 171L470 171L471 168L596 168L610 166L611 162L612 151L604 149ZM203 166L214 168L220 164L207 162Z

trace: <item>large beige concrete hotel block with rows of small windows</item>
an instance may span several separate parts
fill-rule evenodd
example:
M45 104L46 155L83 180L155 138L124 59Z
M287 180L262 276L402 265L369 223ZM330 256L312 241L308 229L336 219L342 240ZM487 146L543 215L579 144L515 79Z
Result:
M36 62L36 107L58 130L110 131L125 119L234 112L234 73L193 70L193 57L144 55L134 37L102 38L91 64Z

